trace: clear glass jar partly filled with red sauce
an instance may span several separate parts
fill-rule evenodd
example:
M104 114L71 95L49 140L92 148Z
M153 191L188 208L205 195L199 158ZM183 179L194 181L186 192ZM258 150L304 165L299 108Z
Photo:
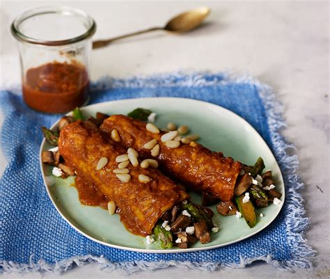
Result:
M64 113L89 99L94 20L67 6L36 8L14 20L24 101L32 109Z

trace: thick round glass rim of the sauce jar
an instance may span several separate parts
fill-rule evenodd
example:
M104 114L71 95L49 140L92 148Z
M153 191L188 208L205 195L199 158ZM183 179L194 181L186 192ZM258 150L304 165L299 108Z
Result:
M40 40L37 38L31 38L27 35L24 35L21 31L19 31L19 25L22 24L26 19L31 17L35 17L37 15L45 15L45 14L61 14L61 15L76 15L81 18L84 18L88 23L87 31L73 38L65 39L65 40ZM40 8L33 8L32 10L27 10L25 13L17 17L10 26L11 33L13 36L22 42L29 42L35 45L47 45L47 46L61 46L61 45L70 45L75 42L80 42L81 40L85 40L86 38L90 38L94 35L96 31L96 23L94 19L85 13L83 10L78 8L72 8L70 6L47 6Z

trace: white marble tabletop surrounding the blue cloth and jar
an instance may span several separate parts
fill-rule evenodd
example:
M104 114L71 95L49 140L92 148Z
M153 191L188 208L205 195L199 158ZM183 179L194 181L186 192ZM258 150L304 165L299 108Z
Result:
M51 2L52 3L52 2ZM59 1L57 3L60 3ZM275 88L285 106L288 127L283 134L297 146L299 173L305 189L308 245L317 250L313 269L283 273L264 263L246 269L214 273L164 269L129 278L329 278L329 2L328 1L108 1L63 2L90 13L98 24L95 38L159 25L178 11L207 5L211 24L186 35L154 33L132 38L93 53L92 77L109 74L131 77L182 70L249 72ZM40 2L3 2L0 7L1 84L19 81L17 51L9 24ZM0 117L1 122L3 116ZM0 155L1 172L6 166ZM317 188L320 187L320 189ZM321 191L322 189L322 191ZM272 274L272 276L270 276ZM182 277L183 276L183 277ZM15 273L3 278L20 277ZM24 278L38 278L28 274ZM45 273L44 278L56 278ZM90 264L74 268L63 278L123 278L120 272L103 273Z

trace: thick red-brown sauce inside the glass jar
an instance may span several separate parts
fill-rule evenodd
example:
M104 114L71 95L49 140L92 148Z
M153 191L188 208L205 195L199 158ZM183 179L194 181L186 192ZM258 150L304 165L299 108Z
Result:
M23 96L32 109L65 113L86 102L89 79L81 63L52 62L27 70Z

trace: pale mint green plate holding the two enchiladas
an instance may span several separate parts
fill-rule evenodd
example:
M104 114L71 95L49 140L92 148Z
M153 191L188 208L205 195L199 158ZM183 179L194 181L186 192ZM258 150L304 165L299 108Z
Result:
M271 150L248 122L221 106L181 98L123 99L93 104L81 110L86 116L95 116L97 111L108 114L127 114L137 107L155 111L157 113L155 124L160 128L164 129L168 122L188 125L191 134L201 136L200 143L211 150L223 152L227 157L230 156L235 160L251 165L261 156L265 161L266 169L273 172L276 189L282 193L281 204L278 206L272 204L263 209L256 209L257 225L254 228L249 228L244 218L221 216L213 206L211 208L214 211L214 221L219 224L220 230L217 234L212 234L212 241L209 244L198 243L187 249L163 250L158 241L148 245L144 237L129 233L120 223L118 214L110 216L107 210L100 207L81 205L77 190L72 186L73 177L67 179L54 177L52 167L42 164L40 160L42 176L49 198L58 213L74 230L100 244L124 250L144 253L182 253L233 244L260 232L274 221L281 210L285 197L283 177ZM57 122L52 128L55 128L56 125ZM40 154L42 150L49 148L52 146L45 143L45 140L42 141ZM191 197L194 202L201 202L200 195L191 193ZM263 217L260 217L261 212Z

